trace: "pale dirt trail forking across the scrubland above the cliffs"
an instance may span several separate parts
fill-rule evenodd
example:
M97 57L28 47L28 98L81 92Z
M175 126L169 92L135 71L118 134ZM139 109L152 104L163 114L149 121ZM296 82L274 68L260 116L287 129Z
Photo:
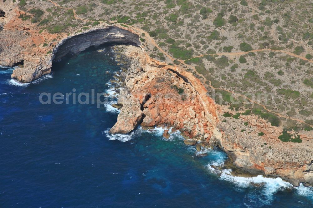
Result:
M82 19L80 17L77 16L77 13L75 11L74 8L68 8L68 7L61 7L59 4L57 4L56 2L52 1L52 0L48 0L49 2L51 2L54 6L56 7L59 7L59 8L62 8L62 9L67 9L67 10L73 10L73 13L74 13L74 18L77 19L77 20L80 20L80 21L83 21L83 22L87 22L87 21L90 21L90 20L85 20L85 19ZM110 22L110 23L113 23L113 24L116 24L117 22L116 21L100 21L100 22ZM123 24L123 25L126 25L126 29L131 29L133 31L135 31L137 34L145 34L145 40L147 42L149 42L150 45L152 46L155 46L160 52L162 52L166 57L168 57L172 62L174 60L177 60L178 62L180 62L181 64L185 65L186 67L188 68L192 68L194 71L196 71L196 68L192 65L189 65L189 64L186 64L185 61L186 60L180 60L180 59L176 59L174 57L172 57L170 54L168 54L166 51L164 51L156 42L155 40L150 37L149 33L140 29L140 28L136 28L136 27L133 27L131 25L127 25L127 24ZM123 25L119 25L119 27L125 27ZM296 58L300 58L304 61L308 61L310 63L313 63L313 60L309 60L305 57L302 57L302 56L299 56L297 54L294 54L294 53L291 53L291 52L288 52L288 51L284 51L284 50L275 50L275 49L255 49L255 50L251 50L251 51L247 51L247 52L222 52L222 53L214 53L214 54L202 54L202 55L199 55L199 56L195 56L195 57L192 57L192 58L196 58L196 57L204 57L206 55L211 55L211 56L214 56L214 55L218 55L218 56L242 56L242 55L245 55L245 54L248 54L249 52L263 52L263 51L273 51L273 52L281 52L281 53L285 53L289 56L292 56L292 57L296 57ZM187 59L187 60L190 60L190 59ZM305 121L303 120L300 120L300 119L297 119L297 118L294 118L294 117L289 117L289 116L285 116L285 115L282 115L280 113L276 113L276 112L273 112L271 110L269 110L266 106L250 99L249 97L246 97L242 94L239 94L239 93L236 93L236 92L233 92L231 90L227 90L227 89L222 89L222 88L215 88L211 85L211 82L209 81L209 84L208 84L208 87L214 89L214 90L223 90L223 91L226 91L226 92L229 92L229 93L232 93L234 95L237 95L237 96L240 96L240 97L244 97L246 100L248 100L249 102L252 102L254 104L257 104L261 107L263 107L266 111L270 112L270 113L273 113L281 118L285 118L285 119L290 119L290 120L293 120L293 121L298 121L300 123L303 123L307 126L310 126L310 127L313 127L313 125L310 125L308 123L306 123Z

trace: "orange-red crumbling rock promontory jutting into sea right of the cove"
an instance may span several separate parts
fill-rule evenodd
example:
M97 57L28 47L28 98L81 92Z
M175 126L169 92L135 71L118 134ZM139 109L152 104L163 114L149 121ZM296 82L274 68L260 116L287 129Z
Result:
M207 145L215 129L216 109L214 102L203 102L197 84L191 84L196 79L177 67L150 59L139 47L125 47L122 55L129 61L127 72L121 75L125 77L119 98L123 107L110 133L129 132L139 124L165 124ZM198 91L203 90L198 86Z

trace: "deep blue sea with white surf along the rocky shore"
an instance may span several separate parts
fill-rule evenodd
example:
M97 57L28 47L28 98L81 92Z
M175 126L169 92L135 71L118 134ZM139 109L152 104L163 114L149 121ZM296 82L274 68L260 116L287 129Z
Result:
M0 67L0 207L313 206L302 185L214 169L225 153L197 156L179 132L169 140L161 128L109 135L118 115L109 104L39 102L43 92L73 88L113 95L120 65L109 48L54 63L52 75L30 84L12 80L12 70Z

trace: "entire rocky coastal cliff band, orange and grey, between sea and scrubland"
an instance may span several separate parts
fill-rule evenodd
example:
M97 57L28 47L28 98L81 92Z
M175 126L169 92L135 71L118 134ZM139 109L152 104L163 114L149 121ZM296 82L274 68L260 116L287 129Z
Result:
M120 51L128 67L121 73L121 113L110 133L128 133L138 125L167 125L181 131L188 145L219 146L246 171L279 176L296 186L313 185L312 133L302 132L301 143L282 142L278 136L283 129L257 116L223 116L236 112L214 103L192 73L149 57L135 28L101 22L83 31L50 34L35 24L25 25L18 18L25 12L11 4L0 8L5 13L0 16L0 65L17 66L12 78L31 82L49 74L54 60L91 46L135 44Z

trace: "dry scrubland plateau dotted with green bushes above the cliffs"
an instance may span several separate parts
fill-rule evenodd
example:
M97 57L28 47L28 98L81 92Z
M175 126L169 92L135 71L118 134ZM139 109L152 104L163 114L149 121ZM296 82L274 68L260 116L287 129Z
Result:
M7 0L12 1L12 0ZM13 0L14 1L14 0ZM16 0L18 1L18 0ZM223 94L217 102L255 114L273 126L311 131L313 125L313 3L295 0L48 0L19 1L25 24L50 33L84 30L99 21L116 21L148 32L164 52L145 44L150 56L181 65L203 79L208 91ZM82 20L79 20L81 18ZM85 21L88 20L88 21ZM273 49L279 51L255 51ZM246 52L246 53L241 53ZM294 55L288 55L291 52ZM302 58L300 58L302 57ZM311 60L311 61L310 61ZM235 92L236 104L230 103ZM271 102L249 104L258 92ZM266 110L267 109L267 110ZM224 114L238 118L240 113ZM288 140L288 133L285 134ZM282 139L283 140L283 139Z

